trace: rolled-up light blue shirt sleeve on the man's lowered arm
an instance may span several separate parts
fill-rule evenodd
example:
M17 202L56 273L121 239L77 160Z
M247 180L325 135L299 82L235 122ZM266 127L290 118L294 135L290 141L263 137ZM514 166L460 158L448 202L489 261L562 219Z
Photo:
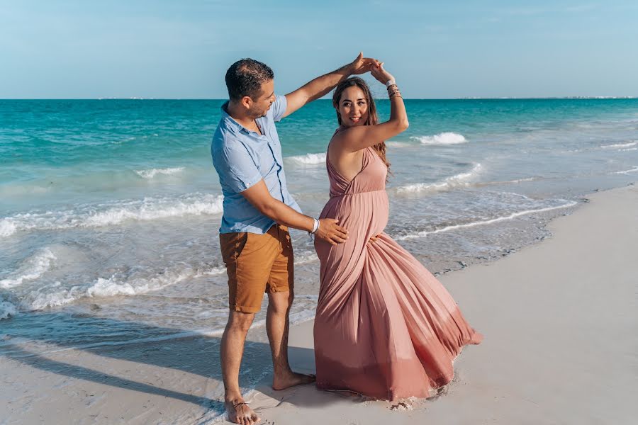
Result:
M230 143L220 149L219 161L216 169L220 181L231 191L240 193L254 186L262 180L257 165L247 149L240 143Z

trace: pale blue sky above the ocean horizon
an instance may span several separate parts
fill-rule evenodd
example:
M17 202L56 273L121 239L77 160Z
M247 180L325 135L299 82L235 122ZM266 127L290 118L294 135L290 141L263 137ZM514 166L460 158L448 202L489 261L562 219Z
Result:
M405 97L638 96L638 1L0 0L0 98L286 93L363 50Z

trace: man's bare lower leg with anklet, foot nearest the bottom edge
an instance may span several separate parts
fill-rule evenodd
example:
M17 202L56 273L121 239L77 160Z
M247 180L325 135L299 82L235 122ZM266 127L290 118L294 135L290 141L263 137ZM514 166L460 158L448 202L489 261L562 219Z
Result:
M221 342L226 413L228 419L237 424L250 425L259 421L259 416L247 404L242 404L244 399L239 387L239 371L244 355L244 343L253 319L254 313L231 311Z

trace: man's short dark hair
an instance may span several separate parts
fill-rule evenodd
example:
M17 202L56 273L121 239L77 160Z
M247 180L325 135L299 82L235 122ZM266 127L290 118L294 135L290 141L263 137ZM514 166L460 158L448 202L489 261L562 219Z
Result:
M262 94L262 83L274 79L274 73L267 64L246 58L230 65L226 71L228 97L239 100L244 96L252 99Z

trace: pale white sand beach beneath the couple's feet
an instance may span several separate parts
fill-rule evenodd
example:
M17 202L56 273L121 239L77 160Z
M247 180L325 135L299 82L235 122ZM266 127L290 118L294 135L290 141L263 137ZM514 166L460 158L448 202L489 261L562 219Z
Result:
M312 385L247 395L263 424L629 424L638 407L638 186L593 193L552 237L441 276L484 334L433 400L365 401ZM293 367L312 372L313 322L291 329ZM262 328L242 370L269 364ZM220 402L218 338L0 358L0 424L205 424Z

